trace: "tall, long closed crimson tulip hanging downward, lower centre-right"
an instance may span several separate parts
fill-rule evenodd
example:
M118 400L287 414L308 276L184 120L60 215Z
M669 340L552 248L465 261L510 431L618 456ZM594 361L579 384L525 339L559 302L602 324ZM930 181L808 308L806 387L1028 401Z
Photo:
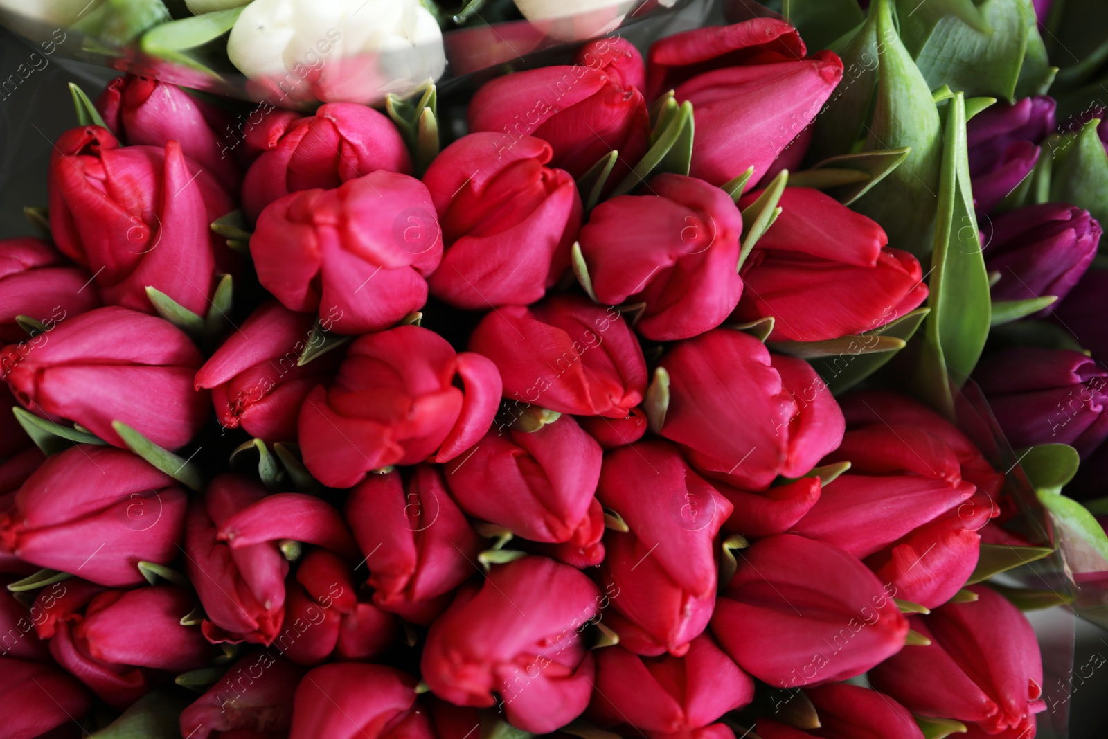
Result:
M684 655L711 617L714 542L731 504L664 441L609 452L596 496L629 528L605 537L601 579L619 593L607 625L636 654Z

